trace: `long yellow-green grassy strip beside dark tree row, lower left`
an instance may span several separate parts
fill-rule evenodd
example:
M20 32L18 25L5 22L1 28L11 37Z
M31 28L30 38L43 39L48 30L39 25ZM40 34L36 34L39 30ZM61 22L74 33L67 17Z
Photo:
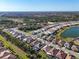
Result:
M29 59L27 57L27 54L24 51L22 51L17 46L10 43L9 41L6 41L6 39L3 38L1 35L0 35L0 41L3 42L3 44L5 45L6 48L10 48L12 51L14 51L14 54L19 56L20 59Z

